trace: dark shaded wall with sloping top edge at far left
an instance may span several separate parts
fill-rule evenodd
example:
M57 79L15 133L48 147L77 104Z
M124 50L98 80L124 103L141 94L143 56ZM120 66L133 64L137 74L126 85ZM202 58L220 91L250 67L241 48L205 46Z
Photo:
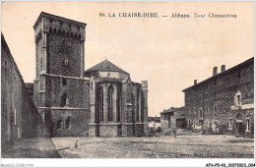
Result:
M43 137L41 133L41 116L1 34L1 146L4 148L18 140Z

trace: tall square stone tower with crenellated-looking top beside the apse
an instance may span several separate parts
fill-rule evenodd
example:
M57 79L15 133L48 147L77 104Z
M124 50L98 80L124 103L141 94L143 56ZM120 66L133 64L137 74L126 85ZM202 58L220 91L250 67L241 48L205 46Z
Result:
M88 129L89 82L84 79L86 26L43 12L33 26L33 98L49 137L77 136Z

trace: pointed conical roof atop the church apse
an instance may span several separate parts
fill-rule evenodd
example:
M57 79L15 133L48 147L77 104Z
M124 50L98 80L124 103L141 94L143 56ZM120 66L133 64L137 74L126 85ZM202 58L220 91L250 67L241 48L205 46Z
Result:
M96 71L101 71L101 72L120 72L120 73L128 74L125 71L123 71L122 69L120 69L119 67L117 67L116 65L114 65L113 63L111 63L110 61L108 61L107 59L105 59L104 61L96 64L96 66L88 69L85 72L85 74L96 72Z

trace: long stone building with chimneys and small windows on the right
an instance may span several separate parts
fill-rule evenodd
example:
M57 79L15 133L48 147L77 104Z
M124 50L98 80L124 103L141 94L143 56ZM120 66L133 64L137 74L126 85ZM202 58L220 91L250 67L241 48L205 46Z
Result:
M254 58L183 90L187 125L216 134L254 134Z

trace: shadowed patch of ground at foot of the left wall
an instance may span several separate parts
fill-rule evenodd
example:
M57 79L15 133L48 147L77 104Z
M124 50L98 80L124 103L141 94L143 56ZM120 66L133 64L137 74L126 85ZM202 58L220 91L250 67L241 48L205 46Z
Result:
M51 139L28 139L1 146L2 158L60 158Z

